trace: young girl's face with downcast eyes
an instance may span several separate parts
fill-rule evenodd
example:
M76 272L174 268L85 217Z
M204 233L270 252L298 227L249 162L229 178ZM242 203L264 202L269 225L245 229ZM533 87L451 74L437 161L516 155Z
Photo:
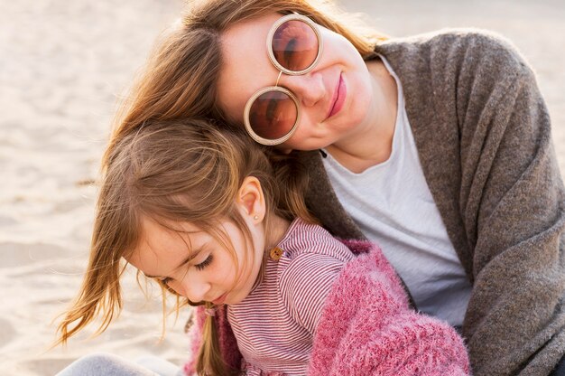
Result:
M191 302L235 305L253 289L264 254L263 226L245 221L250 222L253 244L232 221L219 223L234 254L190 223L179 224L181 231L175 231L145 219L144 237L127 260L145 276L162 280Z

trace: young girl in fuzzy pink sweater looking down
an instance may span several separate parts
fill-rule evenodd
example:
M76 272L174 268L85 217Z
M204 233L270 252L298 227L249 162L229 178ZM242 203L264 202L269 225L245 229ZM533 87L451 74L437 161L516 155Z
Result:
M110 324L125 261L205 307L188 374L468 374L458 334L409 308L379 249L315 224L299 164L274 174L259 146L218 128L148 123L107 155L87 275L60 342L98 313Z

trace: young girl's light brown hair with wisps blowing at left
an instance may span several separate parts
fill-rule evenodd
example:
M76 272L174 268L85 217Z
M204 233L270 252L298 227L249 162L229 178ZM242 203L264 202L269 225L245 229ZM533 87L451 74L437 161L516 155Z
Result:
M276 162L268 152L243 130L198 119L148 122L122 137L107 155L88 270L79 296L59 325L59 343L66 343L98 315L103 319L101 333L119 313L123 258L138 246L142 219L169 230L175 230L171 223L190 222L228 249L229 240L218 230L218 221L227 219L251 241L234 202L245 177L255 176L264 193L266 231L273 215L314 221L303 201L307 174L298 162L288 160L285 168L273 168ZM213 318L207 320L197 369L229 374L218 352Z

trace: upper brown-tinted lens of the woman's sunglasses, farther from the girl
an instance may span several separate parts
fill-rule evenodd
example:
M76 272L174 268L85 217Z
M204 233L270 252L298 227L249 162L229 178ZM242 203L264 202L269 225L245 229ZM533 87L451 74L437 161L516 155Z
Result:
M281 24L273 34L273 55L289 71L304 71L318 57L318 34L310 24L291 20Z

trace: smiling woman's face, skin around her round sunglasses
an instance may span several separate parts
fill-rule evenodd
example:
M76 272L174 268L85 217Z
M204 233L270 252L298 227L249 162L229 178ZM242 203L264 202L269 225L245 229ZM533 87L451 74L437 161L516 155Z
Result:
M247 100L274 86L279 71L269 60L266 39L281 14L235 24L222 35L218 102L230 121L243 124ZM321 27L323 51L307 74L282 74L279 86L290 89L301 106L295 133L280 147L313 150L337 143L367 121L373 91L366 63L346 38Z

